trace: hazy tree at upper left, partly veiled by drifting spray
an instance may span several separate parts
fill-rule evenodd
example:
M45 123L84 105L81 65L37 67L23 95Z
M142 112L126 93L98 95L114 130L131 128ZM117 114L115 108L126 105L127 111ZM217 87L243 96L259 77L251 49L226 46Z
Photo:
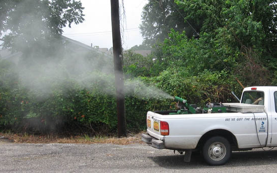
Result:
M63 27L84 21L83 9L76 0L2 0L0 40L5 48L23 52L47 48Z

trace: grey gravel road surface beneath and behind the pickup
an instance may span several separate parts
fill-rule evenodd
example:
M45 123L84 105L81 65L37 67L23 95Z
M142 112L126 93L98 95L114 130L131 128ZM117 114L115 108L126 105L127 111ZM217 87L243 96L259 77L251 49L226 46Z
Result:
M15 144L0 142L0 172L276 172L277 150L233 152L223 166L191 162L146 144Z

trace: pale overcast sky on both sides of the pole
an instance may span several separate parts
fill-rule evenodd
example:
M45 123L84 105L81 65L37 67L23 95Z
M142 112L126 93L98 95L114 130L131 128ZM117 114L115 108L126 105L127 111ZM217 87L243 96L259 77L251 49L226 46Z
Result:
M82 42L89 46L100 48L112 47L111 5L110 0L81 0L85 8L85 21L71 28L63 28L63 36ZM125 16L121 15L121 42L123 49L140 45L143 37L138 27L141 24L141 14L147 0L123 0ZM119 0L122 7L122 0ZM121 8L121 12L122 8Z

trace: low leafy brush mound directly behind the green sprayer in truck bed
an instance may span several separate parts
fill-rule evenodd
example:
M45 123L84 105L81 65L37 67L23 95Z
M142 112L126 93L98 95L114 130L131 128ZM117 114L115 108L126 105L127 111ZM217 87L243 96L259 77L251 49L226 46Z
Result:
M231 91L242 92L239 84L226 71L210 72L204 70L197 76L191 75L186 68L172 68L153 78L156 87L171 96L188 100L191 104L203 107L207 102L236 102Z

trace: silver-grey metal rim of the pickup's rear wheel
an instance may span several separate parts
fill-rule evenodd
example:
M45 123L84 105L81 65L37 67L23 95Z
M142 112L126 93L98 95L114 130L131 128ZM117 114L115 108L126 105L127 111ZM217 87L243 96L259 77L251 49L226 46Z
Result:
M209 157L212 160L219 161L226 155L226 147L221 142L215 142L209 147Z

